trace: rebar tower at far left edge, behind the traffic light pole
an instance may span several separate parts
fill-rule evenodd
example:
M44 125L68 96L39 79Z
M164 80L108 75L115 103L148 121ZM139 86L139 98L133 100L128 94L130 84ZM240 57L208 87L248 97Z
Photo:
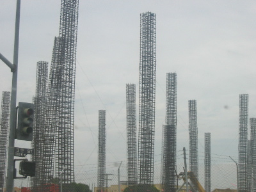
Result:
M6 178L6 157L10 121L10 92L2 93L1 122L0 122L0 191L4 191Z

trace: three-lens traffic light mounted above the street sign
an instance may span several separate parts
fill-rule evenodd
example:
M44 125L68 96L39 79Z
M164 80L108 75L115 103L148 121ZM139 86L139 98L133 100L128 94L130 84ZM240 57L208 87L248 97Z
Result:
M34 104L19 102L18 125L16 136L18 140L33 140Z

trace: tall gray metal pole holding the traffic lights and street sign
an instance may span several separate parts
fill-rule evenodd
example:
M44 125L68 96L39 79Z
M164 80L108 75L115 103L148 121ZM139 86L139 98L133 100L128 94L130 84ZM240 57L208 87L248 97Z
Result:
M16 67L12 70L12 95L10 104L10 131L8 141L8 160L7 160L7 177L6 192L13 191L13 159L14 159L14 140L15 140L15 110L17 99L17 77L18 77L18 58L19 58L19 28L20 28L20 0L17 0L16 21L15 21L15 39L13 51L13 65Z

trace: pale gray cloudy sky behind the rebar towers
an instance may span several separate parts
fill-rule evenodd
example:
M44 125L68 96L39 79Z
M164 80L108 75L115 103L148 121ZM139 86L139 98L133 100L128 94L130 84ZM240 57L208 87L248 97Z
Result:
M0 52L10 61L15 6L14 0L0 1ZM99 109L107 110L107 162L126 162L125 84L136 84L138 96L140 13L148 11L156 13L157 22L156 161L161 159L168 72L177 73L177 150L188 148L188 100L195 99L198 151L204 152L204 132L211 132L212 153L237 159L239 94L249 94L249 117L256 117L256 2L81 0L76 166L97 162ZM59 22L60 1L22 0L17 102L32 101L36 62L51 61ZM0 91L10 90L11 83L10 69L1 62Z

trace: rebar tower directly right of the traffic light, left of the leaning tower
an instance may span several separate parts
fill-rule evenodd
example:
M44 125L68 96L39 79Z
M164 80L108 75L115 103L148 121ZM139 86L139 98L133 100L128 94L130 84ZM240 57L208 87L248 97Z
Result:
M31 156L36 161L36 174L31 177L31 186L33 191L37 191L36 187L42 185L42 172L44 172L43 163L43 134L44 121L47 107L47 81L48 81L48 62L38 61L36 65L36 94L34 97L35 115L34 115L34 131L31 148L34 154Z

